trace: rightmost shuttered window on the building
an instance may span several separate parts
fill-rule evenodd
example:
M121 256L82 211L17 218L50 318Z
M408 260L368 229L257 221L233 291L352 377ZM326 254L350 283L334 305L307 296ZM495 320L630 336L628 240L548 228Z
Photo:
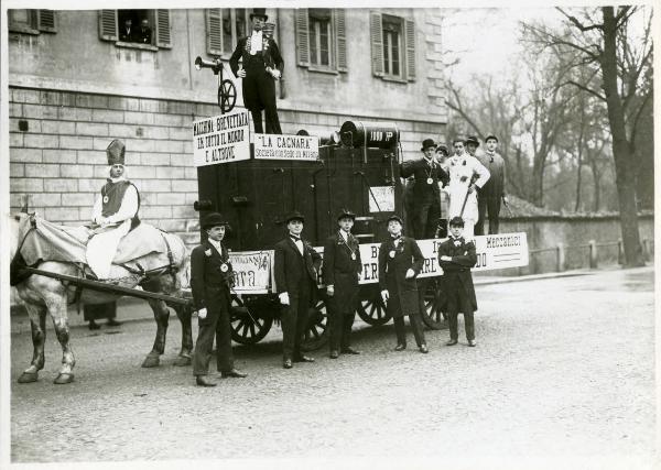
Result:
M370 12L372 74L386 80L415 80L415 25L413 21Z

